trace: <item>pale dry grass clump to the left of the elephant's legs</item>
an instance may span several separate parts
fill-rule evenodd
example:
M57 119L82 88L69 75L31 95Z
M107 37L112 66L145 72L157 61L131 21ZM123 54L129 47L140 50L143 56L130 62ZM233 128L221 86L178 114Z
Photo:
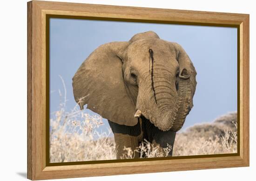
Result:
M115 159L115 144L108 138L110 132L96 131L103 124L101 117L61 109L55 112L55 118L50 120L51 162Z

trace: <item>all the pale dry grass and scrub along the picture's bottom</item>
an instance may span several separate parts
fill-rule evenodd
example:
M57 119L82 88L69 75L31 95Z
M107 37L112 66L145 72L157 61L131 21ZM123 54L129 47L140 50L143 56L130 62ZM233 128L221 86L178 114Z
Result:
M50 162L116 159L115 141L109 137L111 130L101 133L97 131L103 125L100 116L80 111L78 105L67 112L66 89L62 82L65 94L59 91L63 98L60 110L53 112L50 119ZM173 156L236 153L236 115L236 112L232 112L213 123L194 125L177 133ZM136 150L124 148L126 154L123 159L134 158L135 153L140 153L141 158L168 156L171 149L171 145L168 145L160 151L158 146L145 140Z

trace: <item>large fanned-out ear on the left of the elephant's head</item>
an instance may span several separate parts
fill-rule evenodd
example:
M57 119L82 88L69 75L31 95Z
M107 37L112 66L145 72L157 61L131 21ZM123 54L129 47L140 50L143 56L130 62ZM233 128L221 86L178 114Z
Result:
M74 99L103 118L120 125L136 125L135 105L128 97L119 54L128 42L103 44L81 64L73 77Z

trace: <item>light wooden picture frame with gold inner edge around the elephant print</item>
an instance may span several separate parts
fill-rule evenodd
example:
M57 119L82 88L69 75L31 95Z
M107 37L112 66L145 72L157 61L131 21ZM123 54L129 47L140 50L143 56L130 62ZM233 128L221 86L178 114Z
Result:
M180 25L236 27L238 32L238 153L181 156L150 161L125 160L87 164L47 162L48 19L110 19ZM214 164L213 164L214 163ZM157 166L156 166L157 165ZM27 178L31 180L138 174L249 166L249 15L49 1L27 3Z

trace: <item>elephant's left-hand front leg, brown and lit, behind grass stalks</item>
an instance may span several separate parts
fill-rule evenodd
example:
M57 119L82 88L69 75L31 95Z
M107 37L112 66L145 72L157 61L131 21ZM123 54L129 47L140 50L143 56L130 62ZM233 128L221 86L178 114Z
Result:
M130 136L128 134L114 133L116 158L139 158L139 152L135 150L139 146L139 140L137 136ZM131 152L132 151L132 152Z

